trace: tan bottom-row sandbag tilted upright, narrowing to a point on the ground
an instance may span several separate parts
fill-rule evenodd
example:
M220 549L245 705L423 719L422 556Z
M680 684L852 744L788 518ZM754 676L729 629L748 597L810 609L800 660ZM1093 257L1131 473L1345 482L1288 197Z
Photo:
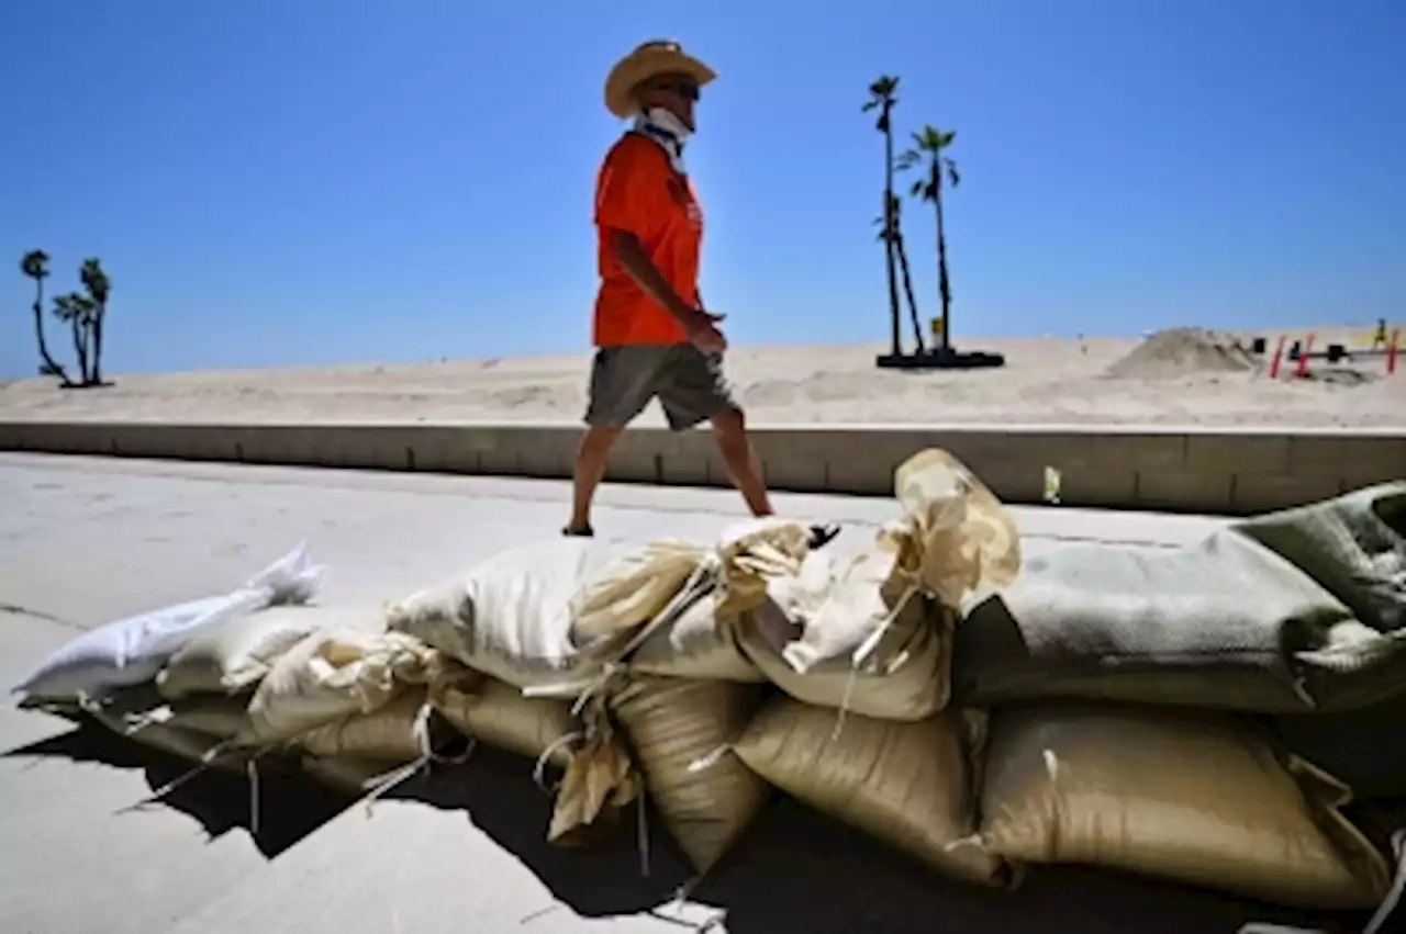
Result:
M730 744L756 711L754 685L631 678L610 697L665 826L706 872L766 802L768 787Z

